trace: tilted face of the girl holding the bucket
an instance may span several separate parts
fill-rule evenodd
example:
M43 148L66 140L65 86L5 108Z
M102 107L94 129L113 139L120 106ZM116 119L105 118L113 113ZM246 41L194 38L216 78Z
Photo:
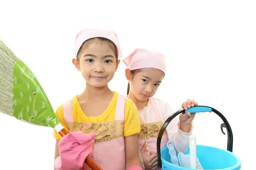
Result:
M128 74L131 73L128 71ZM146 101L156 94L159 85L161 84L164 73L156 68L143 68L136 74L131 75L130 90L139 101Z

